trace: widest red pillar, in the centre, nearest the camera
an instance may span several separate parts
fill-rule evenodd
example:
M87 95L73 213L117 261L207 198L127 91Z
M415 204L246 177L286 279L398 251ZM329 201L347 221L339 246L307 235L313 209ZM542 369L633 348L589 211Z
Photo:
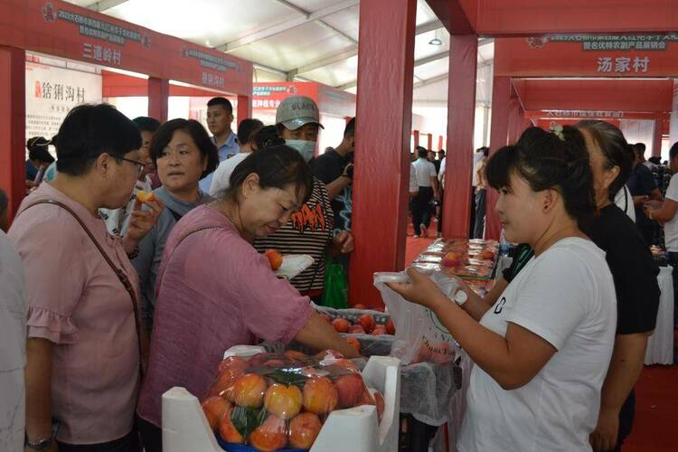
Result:
M382 306L373 273L405 262L416 14L416 0L360 3L352 305Z

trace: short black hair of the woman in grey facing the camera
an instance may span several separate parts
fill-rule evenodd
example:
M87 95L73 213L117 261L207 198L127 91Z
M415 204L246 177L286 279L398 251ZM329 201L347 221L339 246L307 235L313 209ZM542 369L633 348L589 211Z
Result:
M190 135L202 156L207 157L207 168L202 172L200 178L202 179L207 174L213 173L219 165L219 151L217 146L212 143L212 139L207 134L205 127L202 127L202 124L195 119L170 119L157 129L151 139L151 146L148 150L154 165L157 165L157 159L163 155L165 147L172 141L174 132L177 130L183 130Z

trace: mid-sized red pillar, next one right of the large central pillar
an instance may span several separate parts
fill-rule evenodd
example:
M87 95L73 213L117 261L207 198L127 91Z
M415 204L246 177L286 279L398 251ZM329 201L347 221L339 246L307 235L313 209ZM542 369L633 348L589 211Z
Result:
M478 38L475 34L450 37L446 194L443 200L443 236L446 238L468 237L476 121L477 55Z

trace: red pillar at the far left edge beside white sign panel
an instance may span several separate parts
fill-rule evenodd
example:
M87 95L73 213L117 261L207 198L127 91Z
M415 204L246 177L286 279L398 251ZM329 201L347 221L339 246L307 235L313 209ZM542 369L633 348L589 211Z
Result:
M0 188L9 198L9 221L26 191L26 56L0 46Z

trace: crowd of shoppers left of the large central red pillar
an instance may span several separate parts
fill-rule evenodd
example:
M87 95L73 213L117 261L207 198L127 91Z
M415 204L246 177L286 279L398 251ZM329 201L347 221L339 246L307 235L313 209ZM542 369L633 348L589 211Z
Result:
M290 97L275 125L248 118L237 134L228 99L207 107L212 136L193 119L130 120L99 104L29 141L29 194L0 235L8 449L162 450L162 393L202 395L232 345L295 340L356 356L309 303L325 255L353 250L334 201L351 187L355 120L328 153L340 158L314 171L312 99ZM268 248L314 264L290 284Z

